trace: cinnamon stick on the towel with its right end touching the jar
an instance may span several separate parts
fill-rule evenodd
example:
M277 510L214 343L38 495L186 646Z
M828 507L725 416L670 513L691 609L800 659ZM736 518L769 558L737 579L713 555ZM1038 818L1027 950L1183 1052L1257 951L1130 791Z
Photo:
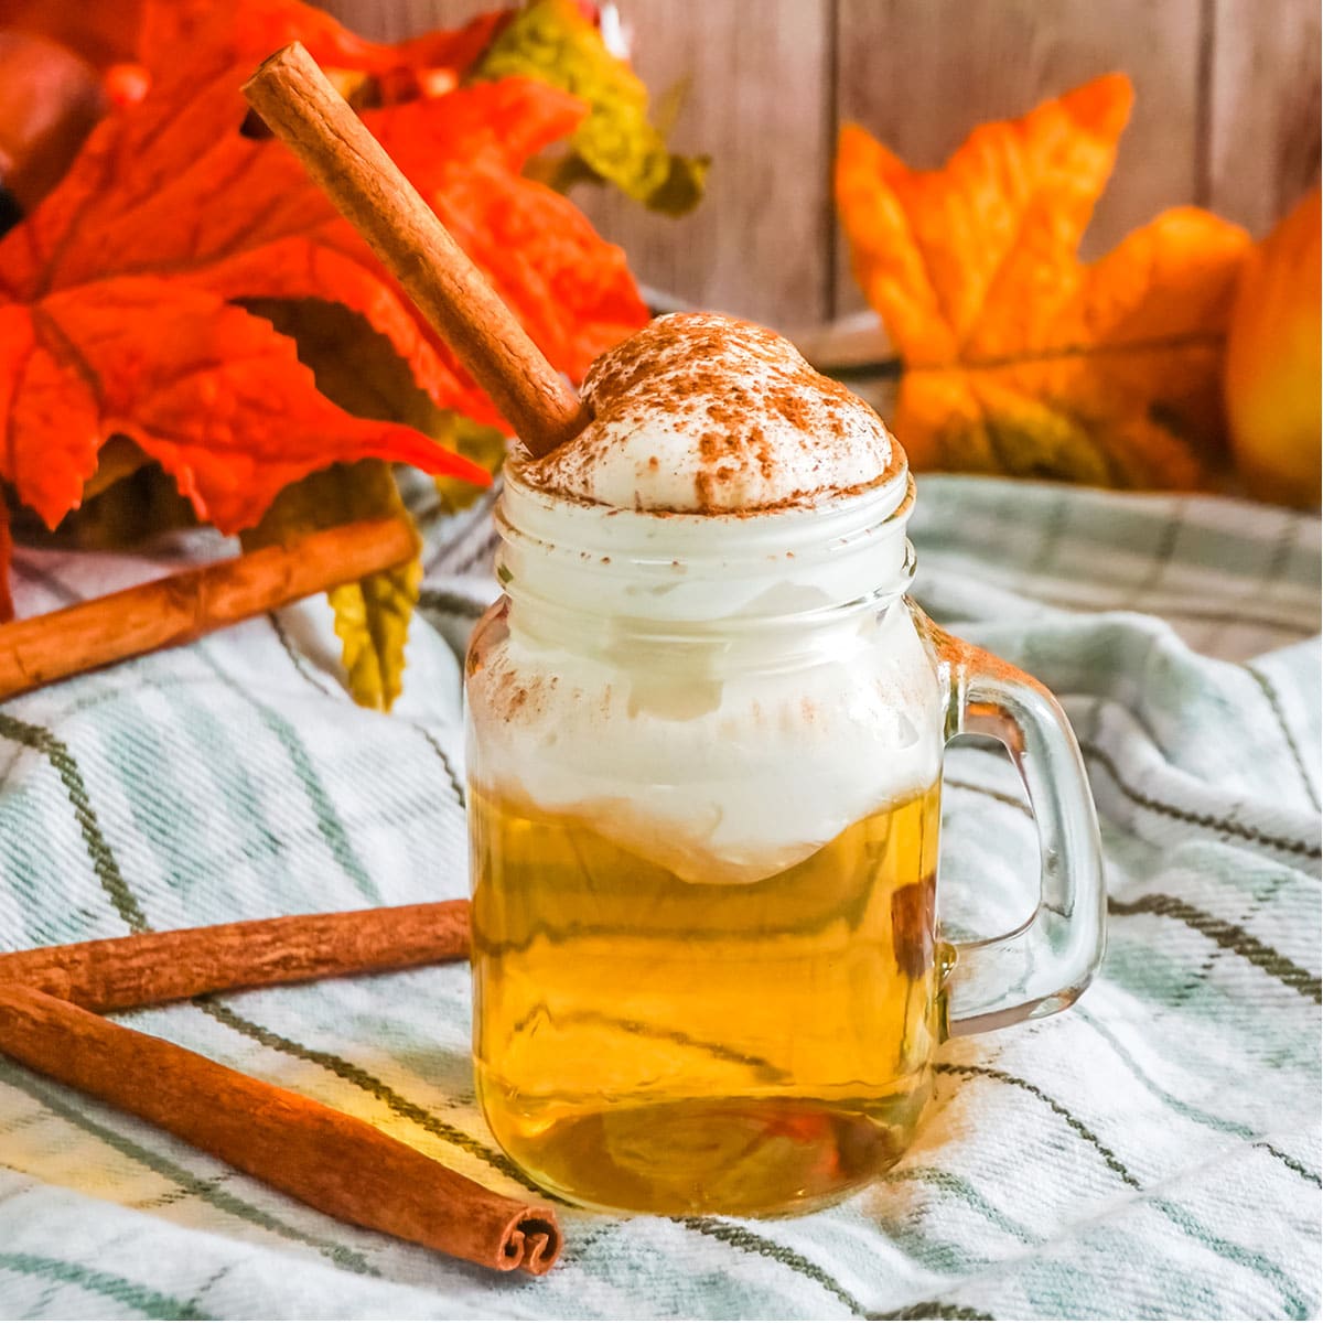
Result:
M86 1011L128 1011L204 992L381 974L468 955L468 901L294 914L139 933L0 955L0 983Z

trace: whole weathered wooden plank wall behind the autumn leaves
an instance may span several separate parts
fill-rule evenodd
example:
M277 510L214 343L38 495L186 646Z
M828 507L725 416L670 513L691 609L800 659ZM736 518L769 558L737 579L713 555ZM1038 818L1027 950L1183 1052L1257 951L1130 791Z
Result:
M496 0L325 0L378 40ZM679 151L708 152L691 216L591 187L576 201L639 279L800 328L861 307L831 204L836 130L857 120L918 167L974 123L1110 69L1136 106L1085 255L1163 206L1265 233L1319 175L1318 0L623 0L654 95L688 82Z

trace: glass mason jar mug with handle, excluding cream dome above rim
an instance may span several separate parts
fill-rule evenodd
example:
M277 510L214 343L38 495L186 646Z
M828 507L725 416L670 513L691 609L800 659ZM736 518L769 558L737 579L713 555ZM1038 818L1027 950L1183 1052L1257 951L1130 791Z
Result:
M609 512L507 470L466 667L474 1054L540 1185L638 1212L830 1203L913 1136L947 1035L1069 1005L1102 955L1061 709L905 591L904 464L757 516ZM995 736L1037 820L1015 931L937 925L942 751Z

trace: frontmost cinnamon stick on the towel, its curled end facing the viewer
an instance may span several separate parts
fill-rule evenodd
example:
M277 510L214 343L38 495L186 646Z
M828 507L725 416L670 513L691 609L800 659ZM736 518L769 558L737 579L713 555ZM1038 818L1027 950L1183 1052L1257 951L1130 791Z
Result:
M341 1221L501 1271L556 1261L556 1213L484 1189L357 1117L34 988L0 986L0 1052Z

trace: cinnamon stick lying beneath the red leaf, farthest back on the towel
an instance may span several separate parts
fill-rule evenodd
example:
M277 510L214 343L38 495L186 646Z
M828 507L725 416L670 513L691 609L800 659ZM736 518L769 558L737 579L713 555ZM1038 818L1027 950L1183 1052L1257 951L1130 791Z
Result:
M189 643L302 597L402 565L398 519L361 520L0 626L0 700L126 658Z

